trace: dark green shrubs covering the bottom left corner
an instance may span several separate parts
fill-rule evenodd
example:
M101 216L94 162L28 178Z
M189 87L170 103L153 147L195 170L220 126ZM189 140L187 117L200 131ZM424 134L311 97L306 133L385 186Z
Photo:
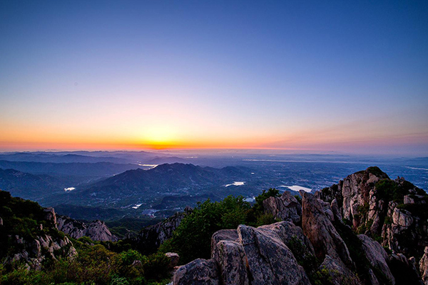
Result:
M144 257L132 249L117 254L96 244L79 249L76 259L58 259L41 271L27 271L21 264L11 271L0 266L0 284L165 284L168 262L163 254Z

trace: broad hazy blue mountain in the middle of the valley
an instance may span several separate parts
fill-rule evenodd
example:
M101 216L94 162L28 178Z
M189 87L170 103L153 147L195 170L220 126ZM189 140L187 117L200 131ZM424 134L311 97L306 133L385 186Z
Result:
M87 187L52 197L51 203L108 205L118 207L168 195L199 195L231 181L250 176L245 167L200 167L191 164L163 164L151 170L128 170Z

